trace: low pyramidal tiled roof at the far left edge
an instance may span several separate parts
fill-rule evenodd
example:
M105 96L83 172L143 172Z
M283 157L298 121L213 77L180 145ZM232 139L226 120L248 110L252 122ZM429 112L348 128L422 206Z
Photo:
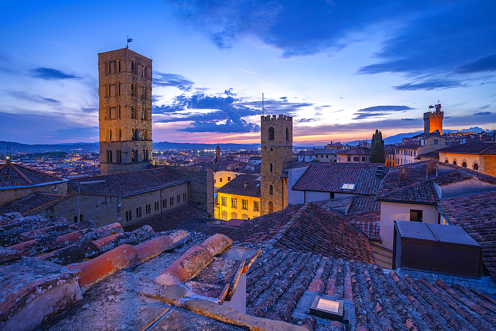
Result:
M60 177L33 170L17 163L0 165L0 188L62 182Z

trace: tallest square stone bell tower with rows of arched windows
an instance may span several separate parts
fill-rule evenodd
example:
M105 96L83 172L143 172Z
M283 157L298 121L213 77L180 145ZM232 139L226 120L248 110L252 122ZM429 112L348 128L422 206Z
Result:
M152 60L123 48L98 54L102 175L147 169L152 153Z

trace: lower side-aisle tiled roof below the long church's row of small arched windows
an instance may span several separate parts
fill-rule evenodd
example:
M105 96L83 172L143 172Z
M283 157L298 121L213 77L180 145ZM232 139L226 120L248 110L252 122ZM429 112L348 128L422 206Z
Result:
M209 214L206 211L195 207L191 203L183 203L177 207L167 209L162 213L127 224L124 226L124 230L133 231L143 225L150 225L156 232L170 231L192 221L193 219L204 218L208 215Z

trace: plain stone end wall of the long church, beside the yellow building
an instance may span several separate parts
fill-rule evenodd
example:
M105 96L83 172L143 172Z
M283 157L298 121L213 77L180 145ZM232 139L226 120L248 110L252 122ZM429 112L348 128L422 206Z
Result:
M170 167L189 181L189 203L214 215L214 172L201 167Z

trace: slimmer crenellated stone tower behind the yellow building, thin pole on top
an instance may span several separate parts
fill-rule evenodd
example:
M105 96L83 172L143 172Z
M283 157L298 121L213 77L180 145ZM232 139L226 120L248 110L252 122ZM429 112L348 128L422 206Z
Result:
M279 211L288 205L287 178L282 170L293 161L293 118L261 116L262 148L260 214Z

